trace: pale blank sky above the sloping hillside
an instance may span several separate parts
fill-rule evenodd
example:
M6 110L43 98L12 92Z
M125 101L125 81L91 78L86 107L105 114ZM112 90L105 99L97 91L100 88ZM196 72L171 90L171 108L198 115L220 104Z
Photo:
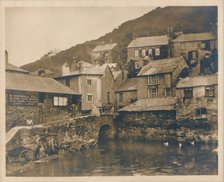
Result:
M22 66L52 49L65 50L97 39L155 7L10 7L6 8L9 62Z

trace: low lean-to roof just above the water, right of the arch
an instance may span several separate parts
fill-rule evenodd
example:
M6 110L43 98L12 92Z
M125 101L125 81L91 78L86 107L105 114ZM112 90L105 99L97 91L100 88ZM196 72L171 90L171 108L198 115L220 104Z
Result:
M176 98L150 98L138 100L119 111L141 112L141 111L170 111L175 110Z

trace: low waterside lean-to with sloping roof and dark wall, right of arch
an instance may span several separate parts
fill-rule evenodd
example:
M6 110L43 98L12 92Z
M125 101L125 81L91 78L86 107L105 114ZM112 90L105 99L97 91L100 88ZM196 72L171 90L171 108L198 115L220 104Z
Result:
M165 126L176 120L176 98L141 99L119 110L124 123Z

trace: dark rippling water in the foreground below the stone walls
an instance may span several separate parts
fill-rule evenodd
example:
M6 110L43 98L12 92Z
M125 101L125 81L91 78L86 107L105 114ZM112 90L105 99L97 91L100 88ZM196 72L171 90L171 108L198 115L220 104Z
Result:
M163 143L102 142L57 157L20 176L131 176L217 174L216 146L164 146Z

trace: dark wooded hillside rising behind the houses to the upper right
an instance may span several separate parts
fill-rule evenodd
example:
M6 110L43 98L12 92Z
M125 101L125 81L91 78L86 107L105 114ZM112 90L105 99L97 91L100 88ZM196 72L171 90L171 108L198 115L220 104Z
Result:
M90 62L90 51L102 42L117 42L121 54L119 63L126 61L126 47L135 36L153 36L166 34L168 27L184 33L216 31L216 7L165 7L157 8L149 13L121 24L112 32L83 44L78 44L63 50L54 56L44 56L33 63L22 66L23 69L35 71L38 68L47 68L54 72L52 76L61 74L64 62L71 64L75 57Z

